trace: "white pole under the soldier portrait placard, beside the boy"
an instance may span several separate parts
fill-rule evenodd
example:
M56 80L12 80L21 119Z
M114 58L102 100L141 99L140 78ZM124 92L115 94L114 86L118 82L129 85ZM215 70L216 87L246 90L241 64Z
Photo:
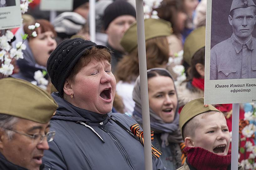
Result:
M239 103L232 105L231 169L238 169Z

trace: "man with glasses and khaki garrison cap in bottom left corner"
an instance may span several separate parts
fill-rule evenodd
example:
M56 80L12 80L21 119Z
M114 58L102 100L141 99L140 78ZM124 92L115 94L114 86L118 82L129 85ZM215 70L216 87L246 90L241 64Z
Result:
M50 119L58 105L41 88L21 79L0 79L0 169L44 169Z

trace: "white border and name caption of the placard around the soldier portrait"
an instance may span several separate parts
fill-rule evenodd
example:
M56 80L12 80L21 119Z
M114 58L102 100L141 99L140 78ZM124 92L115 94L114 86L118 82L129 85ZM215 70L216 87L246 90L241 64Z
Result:
M205 104L256 103L256 78L210 80L211 37L215 39L217 37L218 39L221 34L222 35L226 34L227 38L231 37L232 26L230 26L228 22L228 15L229 15L231 3L232 1L221 1L220 3L217 3L217 2L215 3L212 0L207 0L206 47L205 47L206 48L205 95L204 95ZM212 6L212 4L216 6ZM221 9L219 5L226 6L227 9ZM223 16L218 16L217 18L213 18L212 17L213 10L215 10L215 15L214 15L215 17L217 16L216 13L219 13L219 14L223 13ZM218 20L219 23L217 22L212 23L212 20L213 21ZM215 29L220 29L220 30L215 30ZM221 33L220 31L223 31L224 33ZM254 28L254 31L255 31L255 28ZM254 33L252 35L253 37L256 37ZM232 66L230 65L230 67Z

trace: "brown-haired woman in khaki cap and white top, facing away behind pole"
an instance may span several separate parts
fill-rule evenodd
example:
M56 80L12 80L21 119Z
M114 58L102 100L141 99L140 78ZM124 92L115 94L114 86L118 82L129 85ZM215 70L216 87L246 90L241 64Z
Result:
M139 75L137 24L133 24L124 34L121 45L128 52L116 69L117 93L123 98L125 112L132 115L134 101L133 87ZM169 59L167 36L171 35L170 22L162 19L145 19L145 39L147 68L166 68Z

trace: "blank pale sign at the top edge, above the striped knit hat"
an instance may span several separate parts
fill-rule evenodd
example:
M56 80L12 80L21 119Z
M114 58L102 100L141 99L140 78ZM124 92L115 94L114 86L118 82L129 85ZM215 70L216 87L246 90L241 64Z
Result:
M73 0L41 0L42 11L72 11Z

